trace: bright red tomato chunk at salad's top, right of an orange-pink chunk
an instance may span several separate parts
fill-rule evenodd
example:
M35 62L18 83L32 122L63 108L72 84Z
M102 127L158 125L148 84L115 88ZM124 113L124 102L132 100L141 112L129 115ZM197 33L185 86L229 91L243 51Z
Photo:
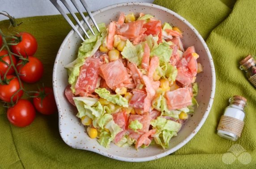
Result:
M145 31L146 35L158 35L158 43L162 43L162 25L161 21L152 21L145 23L143 25L143 28L146 28L147 30Z

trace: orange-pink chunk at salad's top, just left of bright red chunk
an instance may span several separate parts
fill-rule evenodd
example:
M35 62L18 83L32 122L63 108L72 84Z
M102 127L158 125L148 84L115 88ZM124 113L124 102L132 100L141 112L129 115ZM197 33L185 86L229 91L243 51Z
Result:
M127 37L128 39L136 38L140 35L144 21L134 21L123 24L116 30L118 35Z

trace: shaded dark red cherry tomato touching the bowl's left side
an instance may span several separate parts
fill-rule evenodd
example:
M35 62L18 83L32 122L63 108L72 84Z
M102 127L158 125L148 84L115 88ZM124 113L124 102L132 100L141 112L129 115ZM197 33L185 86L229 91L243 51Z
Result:
M39 94L35 94L35 96L38 97L33 99L34 107L36 110L44 115L51 115L58 111L52 88L44 87L44 90L42 88L39 90L39 92Z

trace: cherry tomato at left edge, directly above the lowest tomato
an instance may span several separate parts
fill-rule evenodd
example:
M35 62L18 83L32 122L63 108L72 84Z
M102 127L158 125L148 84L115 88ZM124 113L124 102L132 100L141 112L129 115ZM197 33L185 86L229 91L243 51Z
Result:
M20 89L20 84L16 76L7 75L6 78L12 80L9 81L9 84L0 84L0 99L5 102L11 102L11 97ZM13 96L13 102L20 99L22 95L23 91L21 90Z

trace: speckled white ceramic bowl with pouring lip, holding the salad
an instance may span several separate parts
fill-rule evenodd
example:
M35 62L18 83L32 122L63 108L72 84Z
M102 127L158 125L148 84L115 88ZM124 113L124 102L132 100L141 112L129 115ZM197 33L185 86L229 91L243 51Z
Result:
M196 135L205 123L212 107L215 92L213 60L205 41L196 29L183 17L167 8L148 3L123 3L102 8L94 12L93 15L98 23L105 22L109 24L110 21L118 19L120 12L125 14L130 12L148 13L160 19L162 23L169 22L172 25L178 26L183 31L182 41L185 48L192 45L195 46L196 53L200 55L198 61L204 67L204 71L198 74L196 78L199 86L199 93L196 97L199 107L183 125L178 136L171 139L170 147L165 150L159 146L149 146L137 151L133 146L119 148L112 143L110 148L104 148L98 144L96 139L90 139L87 136L80 119L75 116L77 114L76 108L68 103L64 96L64 89L68 85L68 74L64 65L72 62L77 57L77 51L81 44L80 38L72 30L60 46L53 68L53 89L59 111L60 135L64 142L73 148L92 151L121 161L150 161L164 157L181 148Z

